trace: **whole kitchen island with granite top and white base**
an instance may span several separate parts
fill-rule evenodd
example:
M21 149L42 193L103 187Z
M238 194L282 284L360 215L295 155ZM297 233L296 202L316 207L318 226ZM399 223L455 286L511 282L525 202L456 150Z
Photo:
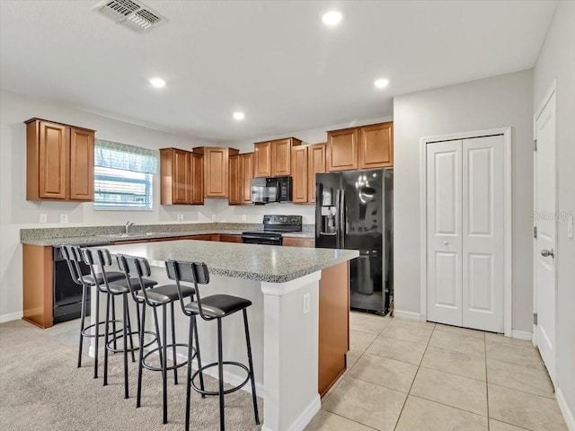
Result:
M202 295L237 295L252 301L248 318L256 386L264 399L261 429L305 429L321 407L322 376L335 381L345 370L348 261L357 258L358 251L201 241L108 248L112 254L146 257L153 268L152 277L160 284L170 282L165 259L206 262L210 283L202 286ZM92 303L94 306L95 300ZM177 338L185 342L187 318L178 308L175 314ZM210 323L199 320L199 343L206 363L217 356L216 328ZM224 322L226 360L246 362L242 331L240 315ZM339 351L334 348L338 343ZM236 384L243 376L226 373L225 380Z

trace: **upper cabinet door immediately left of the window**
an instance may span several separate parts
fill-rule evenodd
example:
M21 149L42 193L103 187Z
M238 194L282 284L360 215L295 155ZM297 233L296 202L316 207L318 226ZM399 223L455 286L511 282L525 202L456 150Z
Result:
M93 131L70 128L70 199L93 200Z

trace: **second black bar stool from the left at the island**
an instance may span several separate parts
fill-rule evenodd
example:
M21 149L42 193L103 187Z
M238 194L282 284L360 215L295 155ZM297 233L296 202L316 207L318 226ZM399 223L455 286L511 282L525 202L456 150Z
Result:
M157 285L157 282L154 280L143 279L142 284L140 286L140 280L137 278L125 278L124 273L115 273L120 274L122 277L118 280L113 282L109 279L109 272L106 272L106 267L110 267L112 264L110 251L107 249L84 249L84 262L86 265L90 267L90 272L92 277L102 277L102 283L98 285L98 289L103 293L108 295L108 302L110 302L110 298L112 299L112 307L113 298L115 296L122 296L122 330L121 333L118 334L116 331L115 324L120 321L116 321L112 317L112 321L110 321L110 307L106 309L106 319L105 319L105 326L104 326L104 383L103 385L106 386L108 384L108 352L118 353L123 352L124 356L124 398L129 397L128 391L128 352L132 355L132 362L136 362L136 357L134 356L134 351L139 348L139 344L137 347L134 347L134 339L133 335L136 334L138 337L140 335L140 328L139 328L139 308L138 304L136 304L136 312L137 312L137 324L138 328L137 331L132 330L132 325L129 317L129 309L128 309L128 294L132 291L139 290L140 288L148 288L151 286ZM98 270L96 270L98 269ZM113 310L113 309L112 309ZM110 323L113 322L113 333L110 337ZM119 349L117 346L117 340L122 339L122 348ZM129 339L129 347L128 347L128 339ZM155 340L149 342L146 346L150 346L153 344Z

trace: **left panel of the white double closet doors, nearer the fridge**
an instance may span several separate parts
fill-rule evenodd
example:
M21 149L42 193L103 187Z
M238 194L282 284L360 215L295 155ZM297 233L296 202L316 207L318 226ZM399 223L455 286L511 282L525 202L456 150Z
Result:
M462 325L462 141L427 145L429 321Z

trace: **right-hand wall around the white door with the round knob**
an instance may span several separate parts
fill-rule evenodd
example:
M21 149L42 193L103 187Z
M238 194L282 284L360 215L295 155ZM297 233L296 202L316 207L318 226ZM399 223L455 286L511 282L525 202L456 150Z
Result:
M555 10L534 71L533 114L556 79L557 210L575 214L575 3L563 1ZM557 391L571 410L575 429L575 240L567 221L557 223ZM562 405L562 400L560 405Z

